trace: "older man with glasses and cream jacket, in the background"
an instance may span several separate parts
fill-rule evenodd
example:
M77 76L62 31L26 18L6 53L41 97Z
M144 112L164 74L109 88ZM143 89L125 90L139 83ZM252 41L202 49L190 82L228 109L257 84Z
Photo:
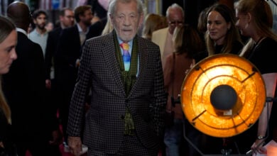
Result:
M161 59L164 67L165 58L173 52L172 36L176 26L183 26L185 21L185 13L181 6L172 4L166 11L168 27L156 30L152 34L152 41L156 43L161 50Z

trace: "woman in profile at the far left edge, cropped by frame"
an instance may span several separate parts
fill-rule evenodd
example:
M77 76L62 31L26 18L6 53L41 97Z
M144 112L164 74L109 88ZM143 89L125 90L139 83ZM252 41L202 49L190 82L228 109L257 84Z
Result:
M0 16L0 75L9 72L16 60L16 26L8 18ZM11 141L11 110L6 103L0 79L0 155L16 156L16 147Z

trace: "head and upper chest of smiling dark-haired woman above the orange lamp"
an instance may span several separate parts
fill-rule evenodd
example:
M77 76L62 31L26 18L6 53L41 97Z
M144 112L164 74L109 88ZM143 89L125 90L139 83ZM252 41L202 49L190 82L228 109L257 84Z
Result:
M235 25L234 11L228 6L214 4L207 11L205 41L209 55L240 52L243 43Z

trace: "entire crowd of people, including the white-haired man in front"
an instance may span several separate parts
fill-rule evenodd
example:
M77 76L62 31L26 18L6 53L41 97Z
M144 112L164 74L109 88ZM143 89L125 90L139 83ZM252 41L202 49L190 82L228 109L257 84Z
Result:
M215 3L197 28L175 3L165 16L146 14L141 0L109 1L97 18L94 7L60 10L50 30L48 13L32 16L21 1L0 16L0 155L61 156L61 145L76 156L244 155L277 142L276 122L268 122L273 101L230 138L197 130L178 101L190 69L217 54L244 57L259 69L266 96L276 96L277 35L267 1Z

